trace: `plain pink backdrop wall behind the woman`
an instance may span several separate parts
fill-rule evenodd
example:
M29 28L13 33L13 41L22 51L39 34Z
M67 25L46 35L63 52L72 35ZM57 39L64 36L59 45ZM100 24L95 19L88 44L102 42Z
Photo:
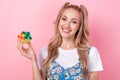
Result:
M66 0L89 11L90 40L100 52L100 80L119 80L120 1ZM17 35L30 31L38 55L53 35L53 21L65 0L0 0L0 80L32 80L31 62L16 48Z

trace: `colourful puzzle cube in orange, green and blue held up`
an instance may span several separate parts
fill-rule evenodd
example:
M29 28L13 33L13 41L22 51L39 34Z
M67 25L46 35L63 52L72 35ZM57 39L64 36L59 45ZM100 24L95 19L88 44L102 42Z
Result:
M30 40L32 40L32 37L30 35L30 32L21 32L20 35L18 35L18 39L23 40L25 43L29 43Z

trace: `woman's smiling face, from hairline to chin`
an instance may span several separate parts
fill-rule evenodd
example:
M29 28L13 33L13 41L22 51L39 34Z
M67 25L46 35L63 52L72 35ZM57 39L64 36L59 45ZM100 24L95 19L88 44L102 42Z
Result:
M66 9L58 25L59 32L63 38L74 39L75 33L80 25L80 12L73 8Z

